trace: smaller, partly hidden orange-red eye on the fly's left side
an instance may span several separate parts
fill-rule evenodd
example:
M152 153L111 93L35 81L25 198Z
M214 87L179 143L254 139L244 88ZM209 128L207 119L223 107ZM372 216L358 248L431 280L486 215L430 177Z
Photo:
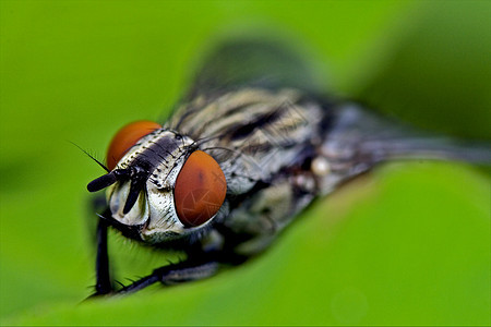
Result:
M119 160L128 150L139 142L143 136L155 130L161 129L159 124L148 120L132 122L116 133L107 150L107 168L115 169Z

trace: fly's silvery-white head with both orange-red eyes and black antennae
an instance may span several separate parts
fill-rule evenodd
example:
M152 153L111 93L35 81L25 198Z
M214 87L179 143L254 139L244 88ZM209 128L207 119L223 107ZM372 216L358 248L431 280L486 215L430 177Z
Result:
M142 122L130 124L112 140L108 150L112 170L88 185L89 191L108 187L110 217L105 218L151 244L199 233L225 199L226 180L219 165L190 137L165 129L137 138L151 131L144 124L133 137L129 130L135 124L142 128ZM137 138L129 149L128 137Z

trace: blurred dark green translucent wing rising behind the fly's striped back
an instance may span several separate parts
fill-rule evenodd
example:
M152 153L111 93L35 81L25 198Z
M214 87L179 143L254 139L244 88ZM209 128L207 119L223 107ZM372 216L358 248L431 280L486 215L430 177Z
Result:
M223 43L202 61L188 99L241 87L296 88L316 94L321 83L311 62L298 50L271 39Z

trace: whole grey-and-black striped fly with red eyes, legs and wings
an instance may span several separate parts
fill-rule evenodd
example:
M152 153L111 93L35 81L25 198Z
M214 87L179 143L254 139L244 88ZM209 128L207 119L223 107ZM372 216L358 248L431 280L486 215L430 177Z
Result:
M330 99L282 47L225 44L163 125L131 123L109 145L98 215L95 295L203 279L247 262L315 198L387 160L491 161L489 147L423 137ZM185 259L129 286L109 276L107 229Z

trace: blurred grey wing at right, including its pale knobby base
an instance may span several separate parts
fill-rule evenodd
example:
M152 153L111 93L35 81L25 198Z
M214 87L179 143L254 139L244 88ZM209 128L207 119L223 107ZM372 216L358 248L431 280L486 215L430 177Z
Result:
M332 108L331 128L323 131L320 155L331 169L321 181L321 194L384 161L436 159L491 165L487 143L418 131L356 104Z

